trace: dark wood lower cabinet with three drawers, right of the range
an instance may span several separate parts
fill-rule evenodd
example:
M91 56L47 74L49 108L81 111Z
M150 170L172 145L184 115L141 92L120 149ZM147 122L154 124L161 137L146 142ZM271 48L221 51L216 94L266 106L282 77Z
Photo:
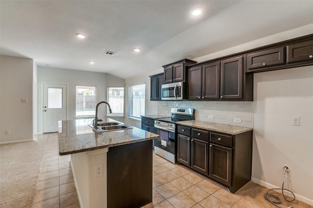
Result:
M235 193L251 179L252 130L235 135L178 125L179 164Z

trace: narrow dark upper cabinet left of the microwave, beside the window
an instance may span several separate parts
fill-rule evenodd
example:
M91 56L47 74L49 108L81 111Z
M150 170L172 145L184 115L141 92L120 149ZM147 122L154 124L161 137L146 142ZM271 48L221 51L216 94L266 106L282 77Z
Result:
M162 99L161 86L164 83L164 73L150 76L150 101L160 101Z

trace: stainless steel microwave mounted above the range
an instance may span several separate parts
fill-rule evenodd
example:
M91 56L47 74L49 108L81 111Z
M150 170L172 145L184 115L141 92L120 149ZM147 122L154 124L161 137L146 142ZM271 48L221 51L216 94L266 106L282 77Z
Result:
M162 84L162 98L164 101L177 101L186 99L186 83L168 83Z

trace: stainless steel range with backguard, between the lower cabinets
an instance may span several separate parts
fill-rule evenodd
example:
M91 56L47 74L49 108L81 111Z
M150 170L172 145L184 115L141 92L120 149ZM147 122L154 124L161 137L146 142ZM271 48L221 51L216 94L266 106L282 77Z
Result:
M195 119L195 109L172 107L171 117L155 119L155 127L159 138L155 140L155 153L166 160L176 163L177 159L177 134L178 121Z

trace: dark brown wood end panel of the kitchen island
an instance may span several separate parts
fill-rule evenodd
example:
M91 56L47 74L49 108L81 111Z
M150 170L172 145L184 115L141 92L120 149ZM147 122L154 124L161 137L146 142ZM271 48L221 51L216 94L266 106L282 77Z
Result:
M108 208L140 208L152 202L152 140L110 147Z

